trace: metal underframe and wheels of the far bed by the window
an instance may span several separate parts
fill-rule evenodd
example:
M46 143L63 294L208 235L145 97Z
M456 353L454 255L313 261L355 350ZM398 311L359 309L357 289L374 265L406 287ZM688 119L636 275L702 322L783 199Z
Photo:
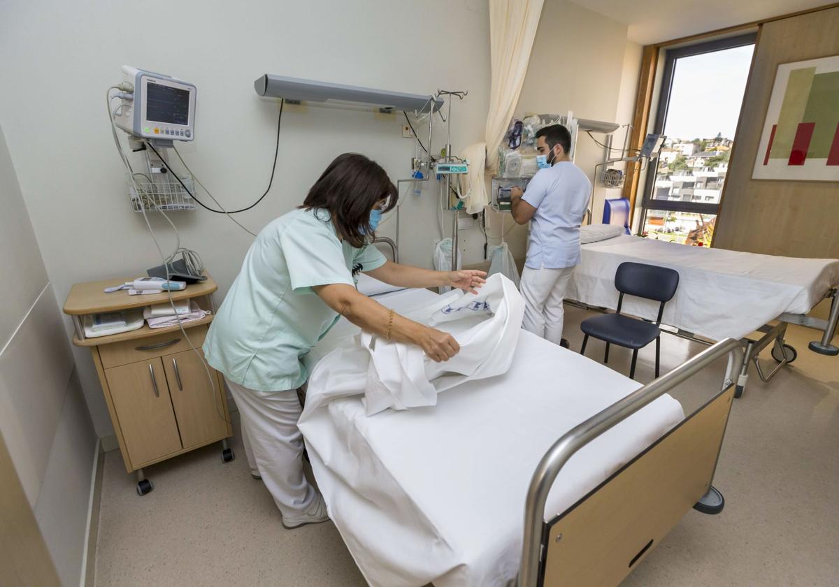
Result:
M776 325L763 325L758 328L758 332L762 336L758 340L753 340L749 337L744 337L740 340L743 346L743 360L741 361L739 375L735 386L734 397L742 397L743 391L748 384L748 367L749 363L754 363L755 370L758 371L758 377L764 383L768 383L775 375L778 374L784 366L789 365L798 357L798 351L795 347L784 342L784 335L786 334L787 325L795 324L806 326L815 330L821 330L821 340L813 340L808 345L810 351L819 353L820 355L836 356L839 355L839 347L833 345L831 340L836 335L836 326L839 324L839 289L831 289L827 292L824 299L831 299L831 310L828 319L814 318L805 314L789 314L784 313L779 315L776 319ZM576 306L577 308L595 310L597 312L606 312L607 309L591 306L578 302L576 300L566 299L567 304ZM647 320L648 322L651 320ZM701 343L702 345L712 345L713 341L697 336L688 330L682 330L672 325L662 325L662 332L670 335L675 335L686 340ZM772 347L772 358L778 362L778 365L765 373L763 367L760 366L758 356L767 346Z

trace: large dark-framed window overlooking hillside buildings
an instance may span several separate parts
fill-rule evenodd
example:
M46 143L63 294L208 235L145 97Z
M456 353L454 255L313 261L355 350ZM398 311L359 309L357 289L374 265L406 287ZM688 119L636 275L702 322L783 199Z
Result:
M649 238L711 244L754 40L667 51L654 129L667 139L647 171L640 225Z

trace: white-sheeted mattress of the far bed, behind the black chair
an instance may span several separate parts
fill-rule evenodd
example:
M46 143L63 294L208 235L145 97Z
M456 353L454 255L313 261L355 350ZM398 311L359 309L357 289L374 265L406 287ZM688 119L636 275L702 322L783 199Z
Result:
M679 272L679 289L664 307L664 324L712 340L740 339L780 314L806 314L839 286L839 260L775 257L751 252L685 247L639 236L617 236L582 246L567 294L585 304L615 309L618 265L646 262ZM623 311L655 319L659 304L625 297Z

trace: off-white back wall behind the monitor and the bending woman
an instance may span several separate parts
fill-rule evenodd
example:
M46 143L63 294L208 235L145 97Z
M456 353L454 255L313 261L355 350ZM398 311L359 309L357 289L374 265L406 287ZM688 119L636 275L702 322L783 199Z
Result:
M278 108L253 90L259 75L417 93L468 90L452 112L451 142L463 147L484 131L488 27L485 0L3 2L0 123L59 303L72 283L141 275L160 262L142 216L130 209L107 122L105 92L121 81L121 65L195 83L197 138L181 153L234 209L263 193L274 155ZM274 189L239 220L257 231L299 205L331 158L346 151L377 159L393 179L408 177L414 143L402 138L402 122L287 107ZM443 136L435 133L435 148ZM436 182L404 203L405 262L430 265L440 237L435 188ZM204 210L172 217L184 246L201 254L219 283L221 301L251 237ZM164 223L154 226L171 247ZM393 221L381 232L392 234ZM482 258L483 238L473 234L480 232L464 231L466 262ZM74 353L96 432L104 436L112 428L89 351Z

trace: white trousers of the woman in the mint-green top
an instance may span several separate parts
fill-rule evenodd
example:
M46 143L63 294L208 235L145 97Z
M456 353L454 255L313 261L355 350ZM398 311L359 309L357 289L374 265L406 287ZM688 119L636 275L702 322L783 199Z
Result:
M274 503L286 517L299 516L315 499L303 474L303 408L297 392L257 392L225 377L242 422L242 444L251 470L258 470Z

